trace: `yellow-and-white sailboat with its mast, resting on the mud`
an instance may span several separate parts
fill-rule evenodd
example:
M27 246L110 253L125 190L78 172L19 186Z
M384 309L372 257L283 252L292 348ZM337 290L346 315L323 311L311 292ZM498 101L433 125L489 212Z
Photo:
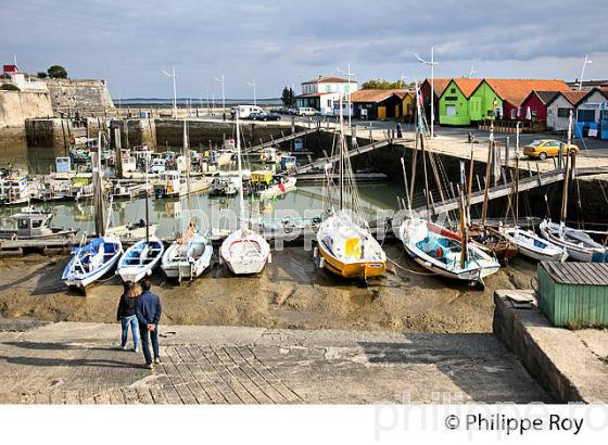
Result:
M340 199L339 207L329 208L329 216L317 231L319 266L343 278L379 277L387 270L387 254L371 236L360 212L358 191L346 154L342 98L340 99ZM331 187L328 175L328 190ZM351 207L345 206L345 186L349 186Z

